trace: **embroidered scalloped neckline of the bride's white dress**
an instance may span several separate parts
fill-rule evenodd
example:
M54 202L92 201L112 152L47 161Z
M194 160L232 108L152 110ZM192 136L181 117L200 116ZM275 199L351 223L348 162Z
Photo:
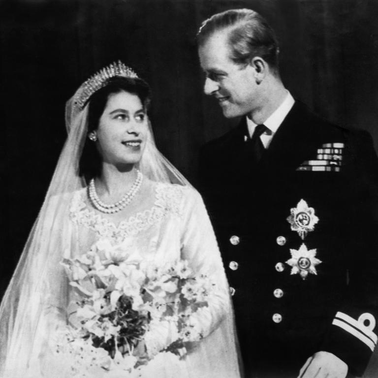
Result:
M84 202L87 189L84 188L78 190L72 198L70 218L74 223L92 229L100 237L120 242L127 236L135 236L140 231L158 223L167 214L181 216L180 203L184 190L185 188L181 185L156 184L156 200L152 208L136 213L134 216L121 221L117 226L114 222L103 218L94 210L88 209Z

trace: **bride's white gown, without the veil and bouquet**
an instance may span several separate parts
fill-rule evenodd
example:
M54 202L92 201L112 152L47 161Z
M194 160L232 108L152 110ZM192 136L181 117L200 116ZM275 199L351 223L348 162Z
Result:
M62 225L69 230L65 230L64 234L70 235L61 240L64 257L73 258L88 252L100 239L110 240L114 245L128 239L145 261L165 264L178 259L188 260L194 272L200 269L209 271L220 288L220 294L211 302L209 315L199 319L205 338L193 343L179 365L169 359L168 353L166 359L159 357L158 366L154 365L153 377L240 377L228 285L201 196L189 187L146 180L140 193L128 206L128 216L112 220L91 207L85 188L69 197L69 214L66 214L69 221L67 225ZM68 198L63 201L66 200ZM54 275L57 278L62 273L57 268L55 272L52 271L51 277ZM60 307L62 313L62 301L56 307ZM42 364L43 377L65 377L62 372L69 361L61 360L60 365L55 364L46 358L48 354L45 354ZM32 374L30 377L42 375ZM118 378L102 369L93 377ZM151 372L141 377L152 377Z

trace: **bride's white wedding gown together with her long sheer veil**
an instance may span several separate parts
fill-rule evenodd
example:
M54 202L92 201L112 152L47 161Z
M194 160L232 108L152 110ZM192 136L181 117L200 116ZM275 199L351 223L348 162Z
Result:
M80 91L80 89L79 89ZM86 253L97 241L126 243L143 261L163 265L189 261L206 270L217 286L209 311L199 317L204 338L191 343L180 361L159 355L140 378L240 377L232 305L221 255L200 195L156 149L150 129L139 169L143 184L115 222L88 200L78 162L87 135L88 106L68 101L68 139L49 190L0 306L0 377L68 378L70 357L58 355L56 334L67 324L73 298L63 258ZM154 362L155 360L155 362ZM149 370L148 366L151 369ZM123 378L103 369L88 377Z

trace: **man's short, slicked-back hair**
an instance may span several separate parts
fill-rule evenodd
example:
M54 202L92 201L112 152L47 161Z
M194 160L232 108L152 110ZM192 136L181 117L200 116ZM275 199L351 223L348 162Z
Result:
M234 63L245 65L258 56L278 72L276 35L260 14L251 9L217 13L202 23L197 33L198 44L204 44L218 31L228 32L229 58Z

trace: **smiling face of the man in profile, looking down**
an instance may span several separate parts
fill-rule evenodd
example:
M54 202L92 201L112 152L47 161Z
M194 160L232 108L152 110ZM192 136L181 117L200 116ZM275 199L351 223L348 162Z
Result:
M227 34L215 32L201 46L198 54L206 73L204 92L218 99L227 118L243 116L256 108L258 87L252 65L235 64L229 58Z

